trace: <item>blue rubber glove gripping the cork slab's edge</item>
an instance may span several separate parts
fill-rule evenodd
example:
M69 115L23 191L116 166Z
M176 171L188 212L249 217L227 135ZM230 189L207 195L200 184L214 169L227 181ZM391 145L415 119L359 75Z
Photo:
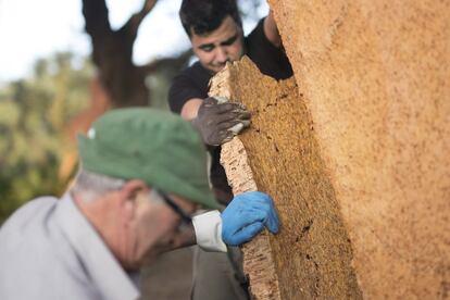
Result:
M236 196L222 213L222 239L230 246L251 240L264 226L278 233L278 215L271 197L261 191Z

